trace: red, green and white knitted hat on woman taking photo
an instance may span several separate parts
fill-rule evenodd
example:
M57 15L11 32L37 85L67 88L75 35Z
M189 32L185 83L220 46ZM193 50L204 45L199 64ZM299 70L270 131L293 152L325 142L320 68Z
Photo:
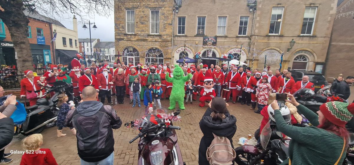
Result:
M331 123L344 127L353 118L354 103L330 101L320 106L323 116Z

